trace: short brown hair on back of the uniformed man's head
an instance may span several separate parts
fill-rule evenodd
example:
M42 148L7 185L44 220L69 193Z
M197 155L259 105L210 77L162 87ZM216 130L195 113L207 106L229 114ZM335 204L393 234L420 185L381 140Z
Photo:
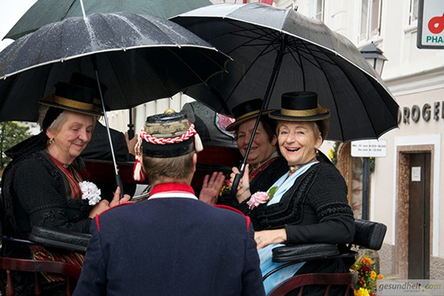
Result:
M193 173L192 155L195 151L170 158L143 156L143 170L150 183L162 178L184 179Z

